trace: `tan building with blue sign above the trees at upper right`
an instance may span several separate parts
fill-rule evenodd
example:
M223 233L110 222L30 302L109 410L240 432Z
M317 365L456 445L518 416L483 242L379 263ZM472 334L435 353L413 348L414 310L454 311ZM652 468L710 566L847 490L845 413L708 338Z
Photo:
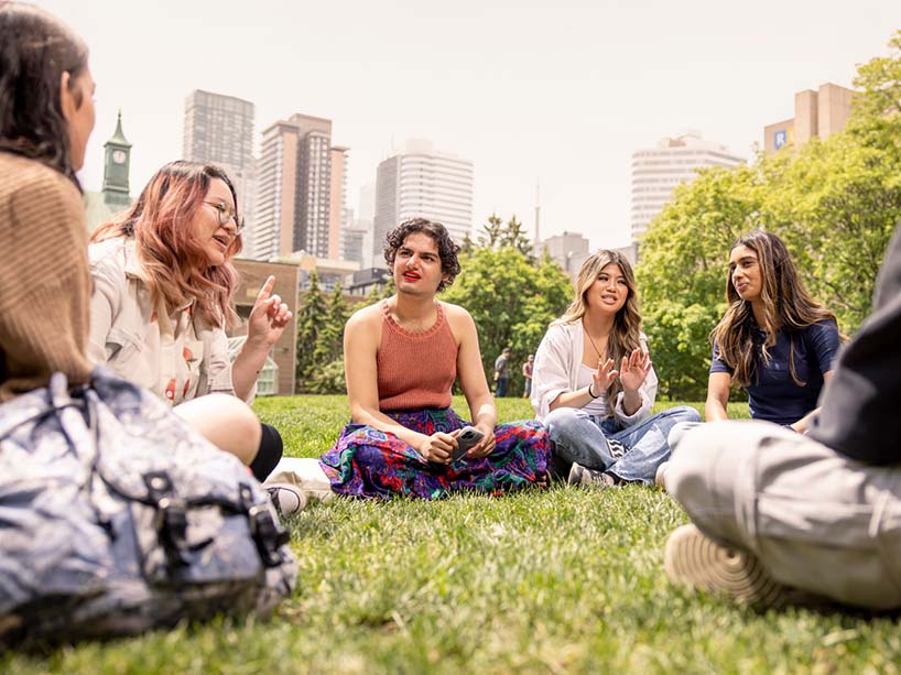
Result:
M797 149L813 138L826 139L842 131L851 116L853 99L853 89L832 83L821 85L817 91L799 91L794 95L794 117L763 128L763 152Z

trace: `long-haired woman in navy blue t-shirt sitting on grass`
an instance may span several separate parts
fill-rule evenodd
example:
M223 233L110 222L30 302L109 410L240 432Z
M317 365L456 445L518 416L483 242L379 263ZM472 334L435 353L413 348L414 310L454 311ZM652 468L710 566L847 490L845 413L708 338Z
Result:
M761 230L729 251L726 298L710 334L707 422L727 418L735 382L748 392L751 417L805 432L842 342L835 315L804 288L782 240Z

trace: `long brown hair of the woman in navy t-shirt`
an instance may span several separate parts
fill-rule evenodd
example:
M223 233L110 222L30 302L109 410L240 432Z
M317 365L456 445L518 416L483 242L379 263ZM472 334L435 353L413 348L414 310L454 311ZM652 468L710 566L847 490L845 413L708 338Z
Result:
M763 230L755 230L739 238L731 248L745 246L757 253L760 265L760 302L763 304L763 329L767 338L761 353L756 353L753 331L757 327L751 303L741 300L732 283L732 271L726 276L726 302L729 308L710 334L710 340L719 349L719 358L732 369L732 381L747 387L757 380L757 361L770 360L769 348L777 341L778 331L789 331L789 372L799 387L803 387L794 369L795 333L824 319L835 319L835 314L816 302L797 276L784 242Z

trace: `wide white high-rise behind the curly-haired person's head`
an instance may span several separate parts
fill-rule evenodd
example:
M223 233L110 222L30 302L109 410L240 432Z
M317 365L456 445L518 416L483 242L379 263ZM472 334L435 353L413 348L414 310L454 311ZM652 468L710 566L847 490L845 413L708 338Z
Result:
M373 264L383 265L386 235L410 218L437 220L456 241L473 229L473 162L409 141L376 174Z

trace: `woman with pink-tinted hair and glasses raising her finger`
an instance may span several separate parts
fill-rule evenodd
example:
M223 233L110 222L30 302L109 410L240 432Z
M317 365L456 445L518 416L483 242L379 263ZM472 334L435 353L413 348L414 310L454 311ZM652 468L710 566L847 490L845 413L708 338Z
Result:
M230 261L241 250L242 226L221 168L171 162L158 171L131 208L91 237L89 355L169 401L263 480L282 439L248 404L291 313L272 294L270 276L243 348L229 361L225 328L239 320L229 304L237 283Z

